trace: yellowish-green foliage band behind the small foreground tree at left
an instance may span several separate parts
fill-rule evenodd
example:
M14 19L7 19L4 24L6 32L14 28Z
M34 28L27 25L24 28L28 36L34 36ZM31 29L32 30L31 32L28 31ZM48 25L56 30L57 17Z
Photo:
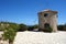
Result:
M18 30L19 24L12 22L0 22L0 31L3 31L6 28Z

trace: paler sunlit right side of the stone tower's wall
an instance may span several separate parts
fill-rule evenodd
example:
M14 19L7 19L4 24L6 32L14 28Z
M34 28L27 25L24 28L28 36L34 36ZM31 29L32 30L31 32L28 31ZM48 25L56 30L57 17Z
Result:
M50 25L53 29L53 32L57 31L57 14L52 14L51 19L50 19Z

